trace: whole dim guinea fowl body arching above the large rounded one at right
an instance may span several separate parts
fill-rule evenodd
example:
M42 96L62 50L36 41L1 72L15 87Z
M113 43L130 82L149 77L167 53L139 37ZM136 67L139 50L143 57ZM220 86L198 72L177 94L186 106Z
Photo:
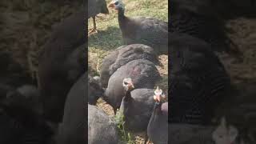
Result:
M233 54L237 58L242 56L238 46L228 38L224 22L212 15L181 9L172 13L169 25L170 33L190 34L210 43L214 51Z

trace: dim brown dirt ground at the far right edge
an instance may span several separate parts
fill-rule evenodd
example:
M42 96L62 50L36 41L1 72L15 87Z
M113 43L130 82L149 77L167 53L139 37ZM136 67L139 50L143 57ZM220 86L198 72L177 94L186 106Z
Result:
M256 84L256 18L237 18L230 20L227 27L232 31L230 38L238 45L244 56L242 63L234 62L234 58L222 55L222 62L234 83Z

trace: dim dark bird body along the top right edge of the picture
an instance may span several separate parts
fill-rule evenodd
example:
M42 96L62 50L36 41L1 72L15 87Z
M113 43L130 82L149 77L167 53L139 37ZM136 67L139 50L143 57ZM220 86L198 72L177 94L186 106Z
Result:
M239 17L255 18L255 0L173 0L171 10L185 9L230 20Z

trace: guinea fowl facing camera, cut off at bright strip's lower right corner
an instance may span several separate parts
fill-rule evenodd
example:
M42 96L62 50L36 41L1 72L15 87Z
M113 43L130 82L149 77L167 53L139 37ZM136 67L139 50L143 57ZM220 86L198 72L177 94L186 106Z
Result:
M154 90L153 113L151 113L150 122L147 126L147 135L154 144L168 143L168 102L162 103L166 96L162 94L161 89ZM152 110L151 110L152 111ZM172 142L171 142L172 143Z

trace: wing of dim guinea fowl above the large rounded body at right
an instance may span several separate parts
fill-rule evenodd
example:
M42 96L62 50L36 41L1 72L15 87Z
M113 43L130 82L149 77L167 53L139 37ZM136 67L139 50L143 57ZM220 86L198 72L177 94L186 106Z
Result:
M209 42L216 51L225 51L228 48L225 29L214 18L196 15L192 12L174 14L171 18L170 31L201 38Z

